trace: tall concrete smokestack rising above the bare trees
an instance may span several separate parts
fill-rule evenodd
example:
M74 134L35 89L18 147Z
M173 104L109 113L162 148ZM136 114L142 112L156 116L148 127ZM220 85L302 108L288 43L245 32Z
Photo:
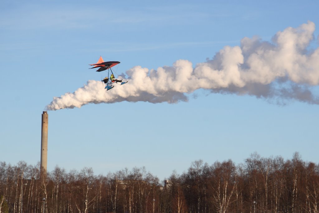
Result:
M42 114L42 131L41 131L41 174L46 174L48 160L48 112ZM43 172L43 173L42 173Z

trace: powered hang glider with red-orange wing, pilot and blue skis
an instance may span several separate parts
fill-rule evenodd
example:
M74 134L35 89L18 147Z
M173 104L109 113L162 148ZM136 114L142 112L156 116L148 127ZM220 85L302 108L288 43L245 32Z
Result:
M118 65L120 63L121 62L119 62L119 61L106 61L106 62L104 62L102 56L100 56L100 59L98 60L98 62L96 64L90 64L93 67L91 67L89 69L93 69L93 68L98 68L99 67L99 69L96 72L106 71L106 70L109 69L108 70L108 76L105 77L102 80L102 82L104 82L106 84L104 89L110 90L110 89L112 89L114 87L114 85L113 85L114 83L116 83L116 84L117 83L121 83L120 85L123 85L123 84L126 84L128 82L128 81L123 81L122 79L121 80L115 79L115 77L114 77L114 73L113 73L111 67L113 67L115 65ZM109 71L111 71L111 73L112 73L111 76L109 76L109 74L110 74Z

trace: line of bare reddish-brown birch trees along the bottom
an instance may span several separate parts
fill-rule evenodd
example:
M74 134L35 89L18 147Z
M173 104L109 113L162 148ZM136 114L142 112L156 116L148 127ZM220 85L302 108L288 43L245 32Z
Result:
M298 153L289 160L254 153L239 165L198 160L162 183L144 167L102 176L56 166L43 177L39 168L0 162L0 213L318 213L319 207L319 165Z

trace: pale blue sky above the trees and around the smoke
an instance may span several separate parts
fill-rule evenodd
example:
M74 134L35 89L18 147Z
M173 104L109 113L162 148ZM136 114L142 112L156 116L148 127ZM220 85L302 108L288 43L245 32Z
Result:
M0 8L0 161L40 161L41 114L53 97L105 73L100 55L125 73L185 59L195 67L244 37L317 26L316 1L4 1ZM318 27L317 27L318 28ZM318 29L308 49L318 48ZM128 83L130 84L130 82ZM126 85L123 85L124 87ZM316 85L311 89L318 92ZM110 90L111 91L111 90ZM104 174L145 166L159 177L191 162L263 157L319 162L318 105L288 99L186 93L187 102L87 104L48 111L48 170L92 167Z

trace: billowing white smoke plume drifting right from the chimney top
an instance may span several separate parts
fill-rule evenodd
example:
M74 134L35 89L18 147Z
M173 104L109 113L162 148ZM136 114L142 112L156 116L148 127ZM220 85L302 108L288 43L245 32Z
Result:
M54 97L46 109L122 101L176 103L187 101L186 94L200 88L213 93L254 95L280 104L291 99L319 104L319 97L311 91L319 84L319 48L310 49L314 31L315 24L308 21L279 31L272 42L245 37L241 46L225 46L195 68L187 60L150 71L135 66L126 72L129 82L125 85L106 91L101 81L88 80L75 92Z

